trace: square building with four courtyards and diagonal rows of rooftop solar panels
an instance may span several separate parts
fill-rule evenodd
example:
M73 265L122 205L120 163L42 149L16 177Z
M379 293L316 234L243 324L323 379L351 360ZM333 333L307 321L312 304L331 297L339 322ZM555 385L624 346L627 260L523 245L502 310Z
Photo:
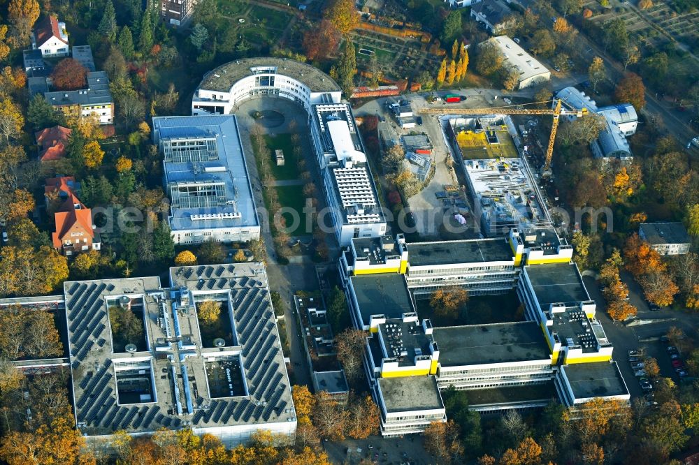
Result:
M165 427L227 447L267 429L293 436L296 413L260 263L173 267L158 277L64 284L75 421L88 439ZM222 309L203 330L199 304ZM138 334L113 325L120 312Z

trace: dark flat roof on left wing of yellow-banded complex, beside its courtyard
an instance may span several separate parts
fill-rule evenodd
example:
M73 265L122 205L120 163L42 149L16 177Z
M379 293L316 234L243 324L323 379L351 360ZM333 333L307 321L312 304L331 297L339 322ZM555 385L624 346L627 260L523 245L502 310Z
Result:
M415 312L402 274L363 274L349 279L364 324L372 315L401 318L403 313Z

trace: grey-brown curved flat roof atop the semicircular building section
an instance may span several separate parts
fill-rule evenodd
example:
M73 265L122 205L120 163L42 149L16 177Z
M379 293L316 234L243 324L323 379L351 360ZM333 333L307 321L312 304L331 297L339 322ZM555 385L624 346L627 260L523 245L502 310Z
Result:
M312 92L340 91L340 86L332 77L326 75L318 68L314 68L300 61L275 57L256 57L238 59L223 64L207 73L199 89L228 92L233 84L246 76L252 76L250 68L255 66L275 66L277 74L292 77L303 82Z

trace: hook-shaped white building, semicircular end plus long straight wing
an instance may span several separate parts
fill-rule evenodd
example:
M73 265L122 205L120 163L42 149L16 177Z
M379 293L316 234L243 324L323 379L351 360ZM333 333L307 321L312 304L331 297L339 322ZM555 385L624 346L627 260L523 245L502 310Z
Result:
M301 105L322 172L324 193L341 246L352 237L380 237L386 219L378 202L366 150L352 109L341 103L333 79L308 64L283 58L231 61L210 71L192 98L192 115L228 115L257 96L288 98Z

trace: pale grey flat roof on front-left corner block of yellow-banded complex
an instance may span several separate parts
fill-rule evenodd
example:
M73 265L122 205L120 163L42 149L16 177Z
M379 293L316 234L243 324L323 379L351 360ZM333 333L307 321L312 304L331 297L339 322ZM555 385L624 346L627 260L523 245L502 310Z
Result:
M434 376L379 378L378 383L389 413L444 408Z

